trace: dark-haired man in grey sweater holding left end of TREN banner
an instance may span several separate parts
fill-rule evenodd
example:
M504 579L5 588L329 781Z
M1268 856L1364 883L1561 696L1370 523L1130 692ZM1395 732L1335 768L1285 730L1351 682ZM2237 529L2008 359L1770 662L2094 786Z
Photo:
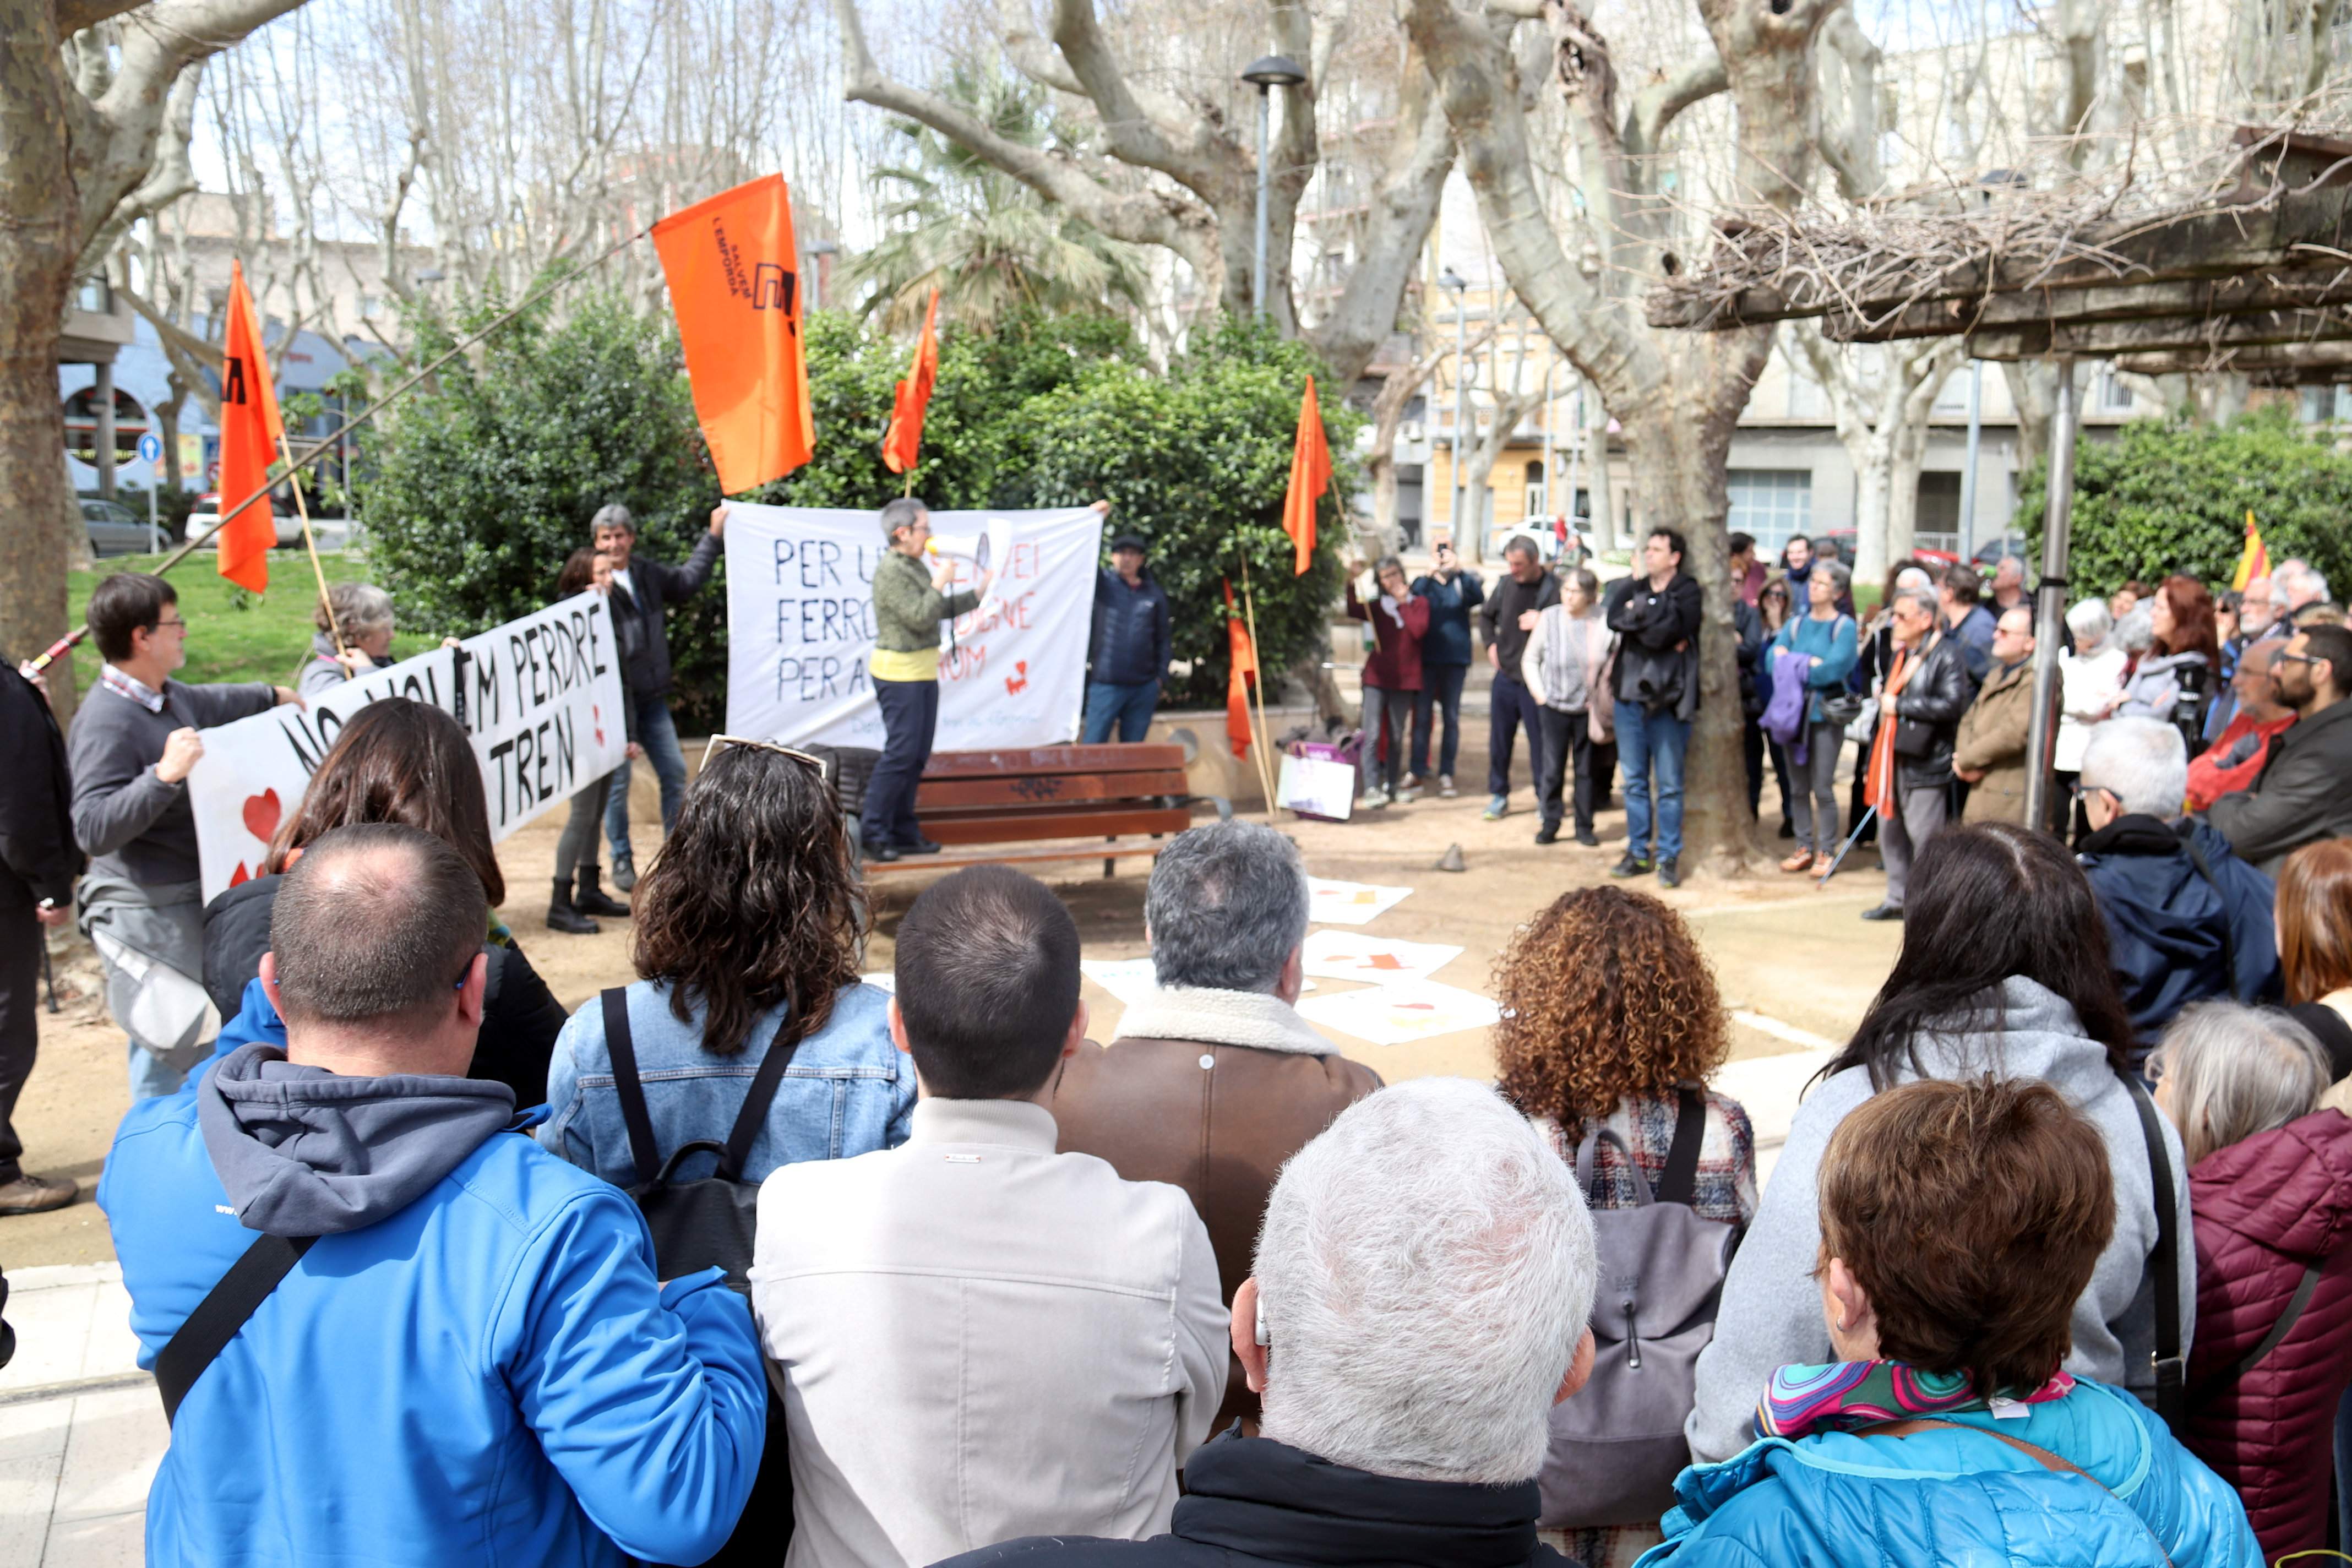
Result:
M106 964L106 1006L129 1034L132 1100L167 1095L205 1056L205 900L188 773L198 729L278 703L287 686L183 686L188 623L158 576L118 571L89 595L106 665L73 715L73 837L89 851L82 931Z

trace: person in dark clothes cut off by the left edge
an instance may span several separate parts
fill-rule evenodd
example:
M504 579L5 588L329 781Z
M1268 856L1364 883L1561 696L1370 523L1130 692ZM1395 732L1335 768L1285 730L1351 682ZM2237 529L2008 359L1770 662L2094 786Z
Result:
M66 1178L26 1175L24 1143L9 1117L33 1077L40 1048L42 926L73 919L73 785L66 738L49 698L14 670L0 670L0 1215L64 1208L80 1192Z

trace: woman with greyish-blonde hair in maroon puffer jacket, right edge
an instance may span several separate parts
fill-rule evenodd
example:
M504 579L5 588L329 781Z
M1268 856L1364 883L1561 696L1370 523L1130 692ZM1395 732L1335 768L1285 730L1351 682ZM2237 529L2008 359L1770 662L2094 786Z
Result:
M2197 1215L2197 1338L2178 1434L2246 1502L2263 1561L2326 1547L2352 1382L2352 1119L2286 1013L2190 1006L2147 1058Z

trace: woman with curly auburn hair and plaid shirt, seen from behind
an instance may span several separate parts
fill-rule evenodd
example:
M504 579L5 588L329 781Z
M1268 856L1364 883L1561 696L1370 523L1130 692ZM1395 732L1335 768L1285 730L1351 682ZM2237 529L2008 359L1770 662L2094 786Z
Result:
M1496 959L1503 1020L1494 1046L1501 1088L1569 1164L1595 1133L1632 1152L1649 1185L1665 1175L1686 1100L1705 1110L1691 1208L1745 1225L1757 1211L1757 1140L1736 1100L1703 1088L1731 1053L1731 1020L1715 971L1668 905L1649 893L1590 886L1562 893ZM1606 1138L1592 1159L1595 1208L1637 1201L1632 1173ZM1663 1540L1658 1521L1628 1519L1550 1535L1588 1568L1623 1568Z

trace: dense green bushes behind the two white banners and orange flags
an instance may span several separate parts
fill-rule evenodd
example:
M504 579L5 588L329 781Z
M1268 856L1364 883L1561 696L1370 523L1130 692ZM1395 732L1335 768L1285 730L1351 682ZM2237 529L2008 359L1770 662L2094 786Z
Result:
M499 306L426 322L440 353ZM880 442L908 346L847 313L807 324L816 454L743 501L880 508L906 489ZM1324 393L1334 484L1322 503L1315 569L1291 574L1282 534L1298 395L1319 371L1301 343L1268 329L1204 331L1164 374L1112 317L1016 315L995 334L941 334L915 494L941 510L1080 505L1108 496L1110 529L1152 545L1192 679L1171 701L1221 701L1221 578L1249 550L1268 668L1315 649L1338 592L1338 538L1357 482L1362 416ZM529 317L501 329L412 397L369 442L360 515L379 581L402 630L473 632L553 595L564 555L588 541L607 501L637 515L637 548L682 559L717 505L675 331L614 299L586 301L564 324ZM670 611L680 717L717 729L727 715L724 569Z

